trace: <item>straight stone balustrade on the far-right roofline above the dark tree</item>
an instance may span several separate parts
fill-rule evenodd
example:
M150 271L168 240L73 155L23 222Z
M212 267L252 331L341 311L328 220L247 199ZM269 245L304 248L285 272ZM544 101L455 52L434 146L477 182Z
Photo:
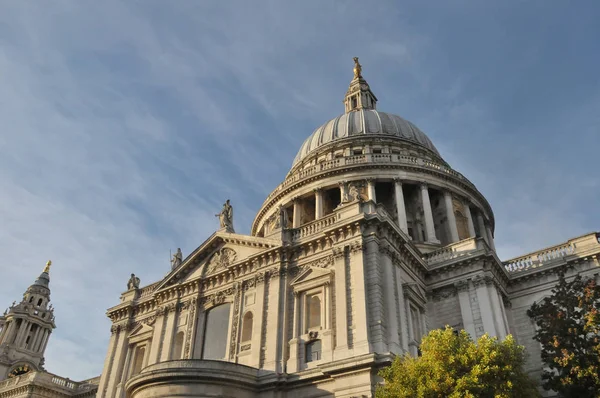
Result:
M593 248L600 250L597 233L583 235L560 245L503 261L502 264L508 272L520 272L564 261L567 257L581 255Z

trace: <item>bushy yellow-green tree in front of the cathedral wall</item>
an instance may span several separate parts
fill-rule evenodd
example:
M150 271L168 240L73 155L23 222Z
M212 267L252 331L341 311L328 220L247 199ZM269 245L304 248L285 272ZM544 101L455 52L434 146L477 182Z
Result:
M396 357L379 375L377 398L529 398L539 392L523 370L524 348L512 336L482 336L474 343L464 330L433 330L421 356Z

